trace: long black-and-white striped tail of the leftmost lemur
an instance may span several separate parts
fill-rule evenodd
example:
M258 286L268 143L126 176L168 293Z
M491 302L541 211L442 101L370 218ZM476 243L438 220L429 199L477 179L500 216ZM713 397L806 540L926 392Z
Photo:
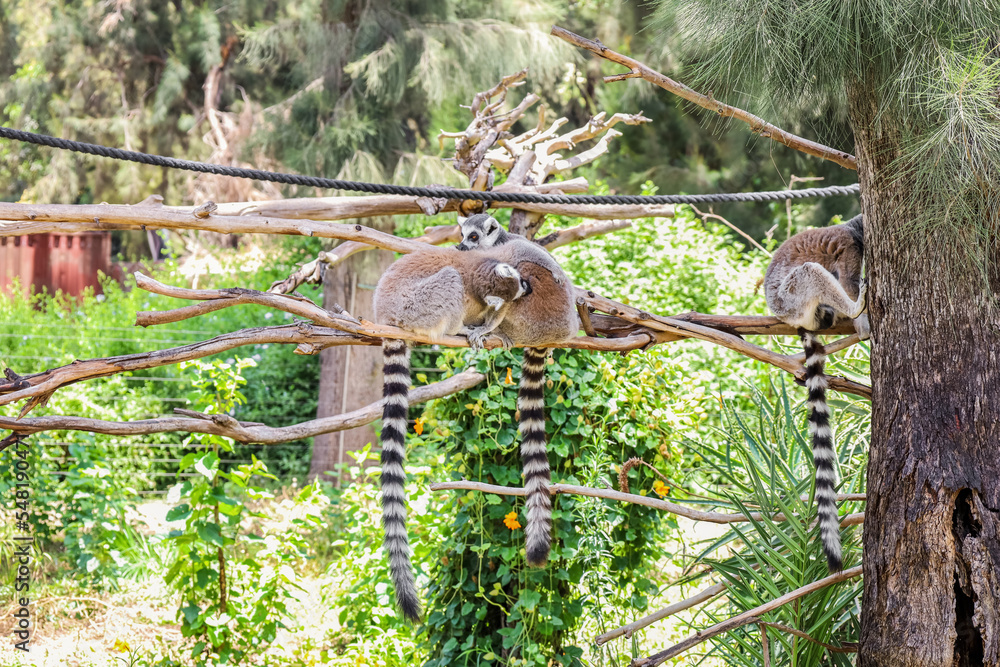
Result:
M396 589L396 604L411 621L420 618L420 599L406 537L406 418L409 409L410 348L401 340L382 341L385 406L382 408L382 547Z

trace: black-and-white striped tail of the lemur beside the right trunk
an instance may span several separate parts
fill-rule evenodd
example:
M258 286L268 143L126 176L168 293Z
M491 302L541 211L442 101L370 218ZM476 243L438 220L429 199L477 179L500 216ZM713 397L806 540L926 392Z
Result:
M840 517L837 515L837 473L833 462L833 431L830 429L830 408L826 403L826 375L823 366L826 352L816 334L800 330L806 353L805 383L809 390L809 434L813 439L813 461L816 464L816 506L819 515L819 535L823 553L831 572L841 569Z

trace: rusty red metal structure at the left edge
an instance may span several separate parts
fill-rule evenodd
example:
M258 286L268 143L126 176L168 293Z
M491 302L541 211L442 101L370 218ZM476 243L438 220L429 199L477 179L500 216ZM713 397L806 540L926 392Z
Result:
M0 237L0 289L8 294L15 277L25 295L32 287L73 296L86 287L99 292L98 271L111 272L110 232Z

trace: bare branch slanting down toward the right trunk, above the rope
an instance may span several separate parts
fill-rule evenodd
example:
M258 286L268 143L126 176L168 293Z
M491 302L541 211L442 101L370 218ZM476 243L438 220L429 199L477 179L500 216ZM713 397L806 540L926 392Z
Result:
M602 58L629 68L631 71L628 78L642 77L646 81L654 83L660 88L684 98L688 102L692 102L693 104L697 104L704 109L717 113L719 116L741 120L750 126L750 130L754 134L766 137L772 141L778 142L779 144L784 144L789 148L794 148L795 150L806 153L807 155L836 162L841 167L845 167L847 169L857 170L858 168L857 160L850 153L838 151L834 148L830 148L829 146L824 146L823 144L815 141L803 139L802 137L796 136L790 132L786 132L780 127L768 123L759 116L755 116L754 114L744 111L743 109L723 104L711 95L703 95L702 93L692 90L683 83L678 83L668 76L661 74L656 70L650 69L638 60L634 60L626 55L612 51L600 42L586 39L580 35L570 32L569 30L566 30L565 28L560 28L559 26L552 26L552 34L569 42L570 44L587 49L591 53L594 53ZM617 77L612 77L612 80L617 81L621 78L623 77L619 75Z

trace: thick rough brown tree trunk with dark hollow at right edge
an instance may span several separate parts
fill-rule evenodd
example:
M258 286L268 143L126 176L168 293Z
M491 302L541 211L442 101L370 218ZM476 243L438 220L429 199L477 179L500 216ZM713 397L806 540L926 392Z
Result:
M971 233L914 232L902 123L874 90L849 91L873 385L858 665L1000 665L997 285L963 259Z

